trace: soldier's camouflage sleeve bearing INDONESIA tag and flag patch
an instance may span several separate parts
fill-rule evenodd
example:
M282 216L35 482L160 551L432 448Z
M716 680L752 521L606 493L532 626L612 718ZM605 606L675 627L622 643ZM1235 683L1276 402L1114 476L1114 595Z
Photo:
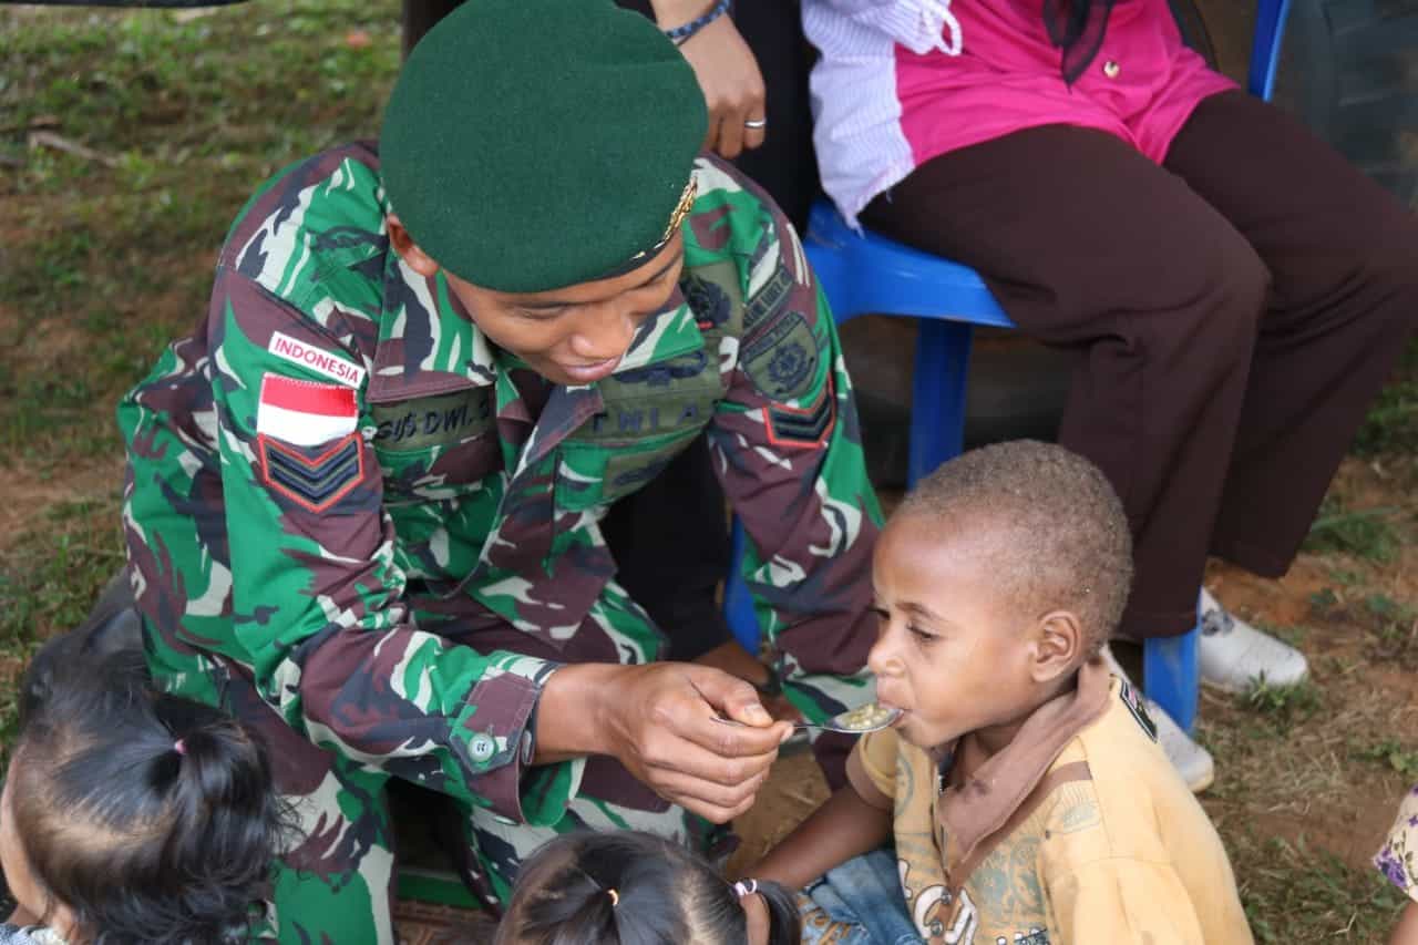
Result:
M231 268L217 272L208 329L233 631L262 698L322 748L556 822L574 763L523 780L527 719L554 664L417 629L360 392L328 383L367 365ZM336 360L302 372L272 350L281 338Z

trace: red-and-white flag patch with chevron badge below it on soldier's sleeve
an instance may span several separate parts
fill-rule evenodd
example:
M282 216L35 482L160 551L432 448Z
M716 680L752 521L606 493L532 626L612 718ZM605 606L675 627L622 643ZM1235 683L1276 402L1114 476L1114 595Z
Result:
M323 512L364 477L354 390L267 375L257 406L261 481Z

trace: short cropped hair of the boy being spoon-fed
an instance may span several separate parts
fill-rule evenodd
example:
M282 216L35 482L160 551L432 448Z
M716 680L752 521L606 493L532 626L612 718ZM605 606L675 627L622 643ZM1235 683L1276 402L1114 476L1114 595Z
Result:
M988 529L991 587L1034 614L1072 610L1089 654L1122 619L1133 579L1127 515L1076 453L1034 440L970 450L922 480L896 515L942 519L943 539Z

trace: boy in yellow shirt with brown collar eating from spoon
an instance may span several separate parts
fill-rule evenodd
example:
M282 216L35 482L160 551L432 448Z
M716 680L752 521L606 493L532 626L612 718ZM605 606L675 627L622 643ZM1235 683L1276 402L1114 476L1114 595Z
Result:
M905 712L752 871L813 884L804 942L1252 941L1215 829L1099 658L1130 578L1122 504L1061 447L967 453L902 502L868 665Z

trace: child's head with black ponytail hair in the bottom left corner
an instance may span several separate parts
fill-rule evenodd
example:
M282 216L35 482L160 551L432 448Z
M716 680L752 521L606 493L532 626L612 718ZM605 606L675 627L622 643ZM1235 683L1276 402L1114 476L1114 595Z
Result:
M31 670L24 694L0 793L20 905L71 944L245 942L284 830L262 746L130 654Z

